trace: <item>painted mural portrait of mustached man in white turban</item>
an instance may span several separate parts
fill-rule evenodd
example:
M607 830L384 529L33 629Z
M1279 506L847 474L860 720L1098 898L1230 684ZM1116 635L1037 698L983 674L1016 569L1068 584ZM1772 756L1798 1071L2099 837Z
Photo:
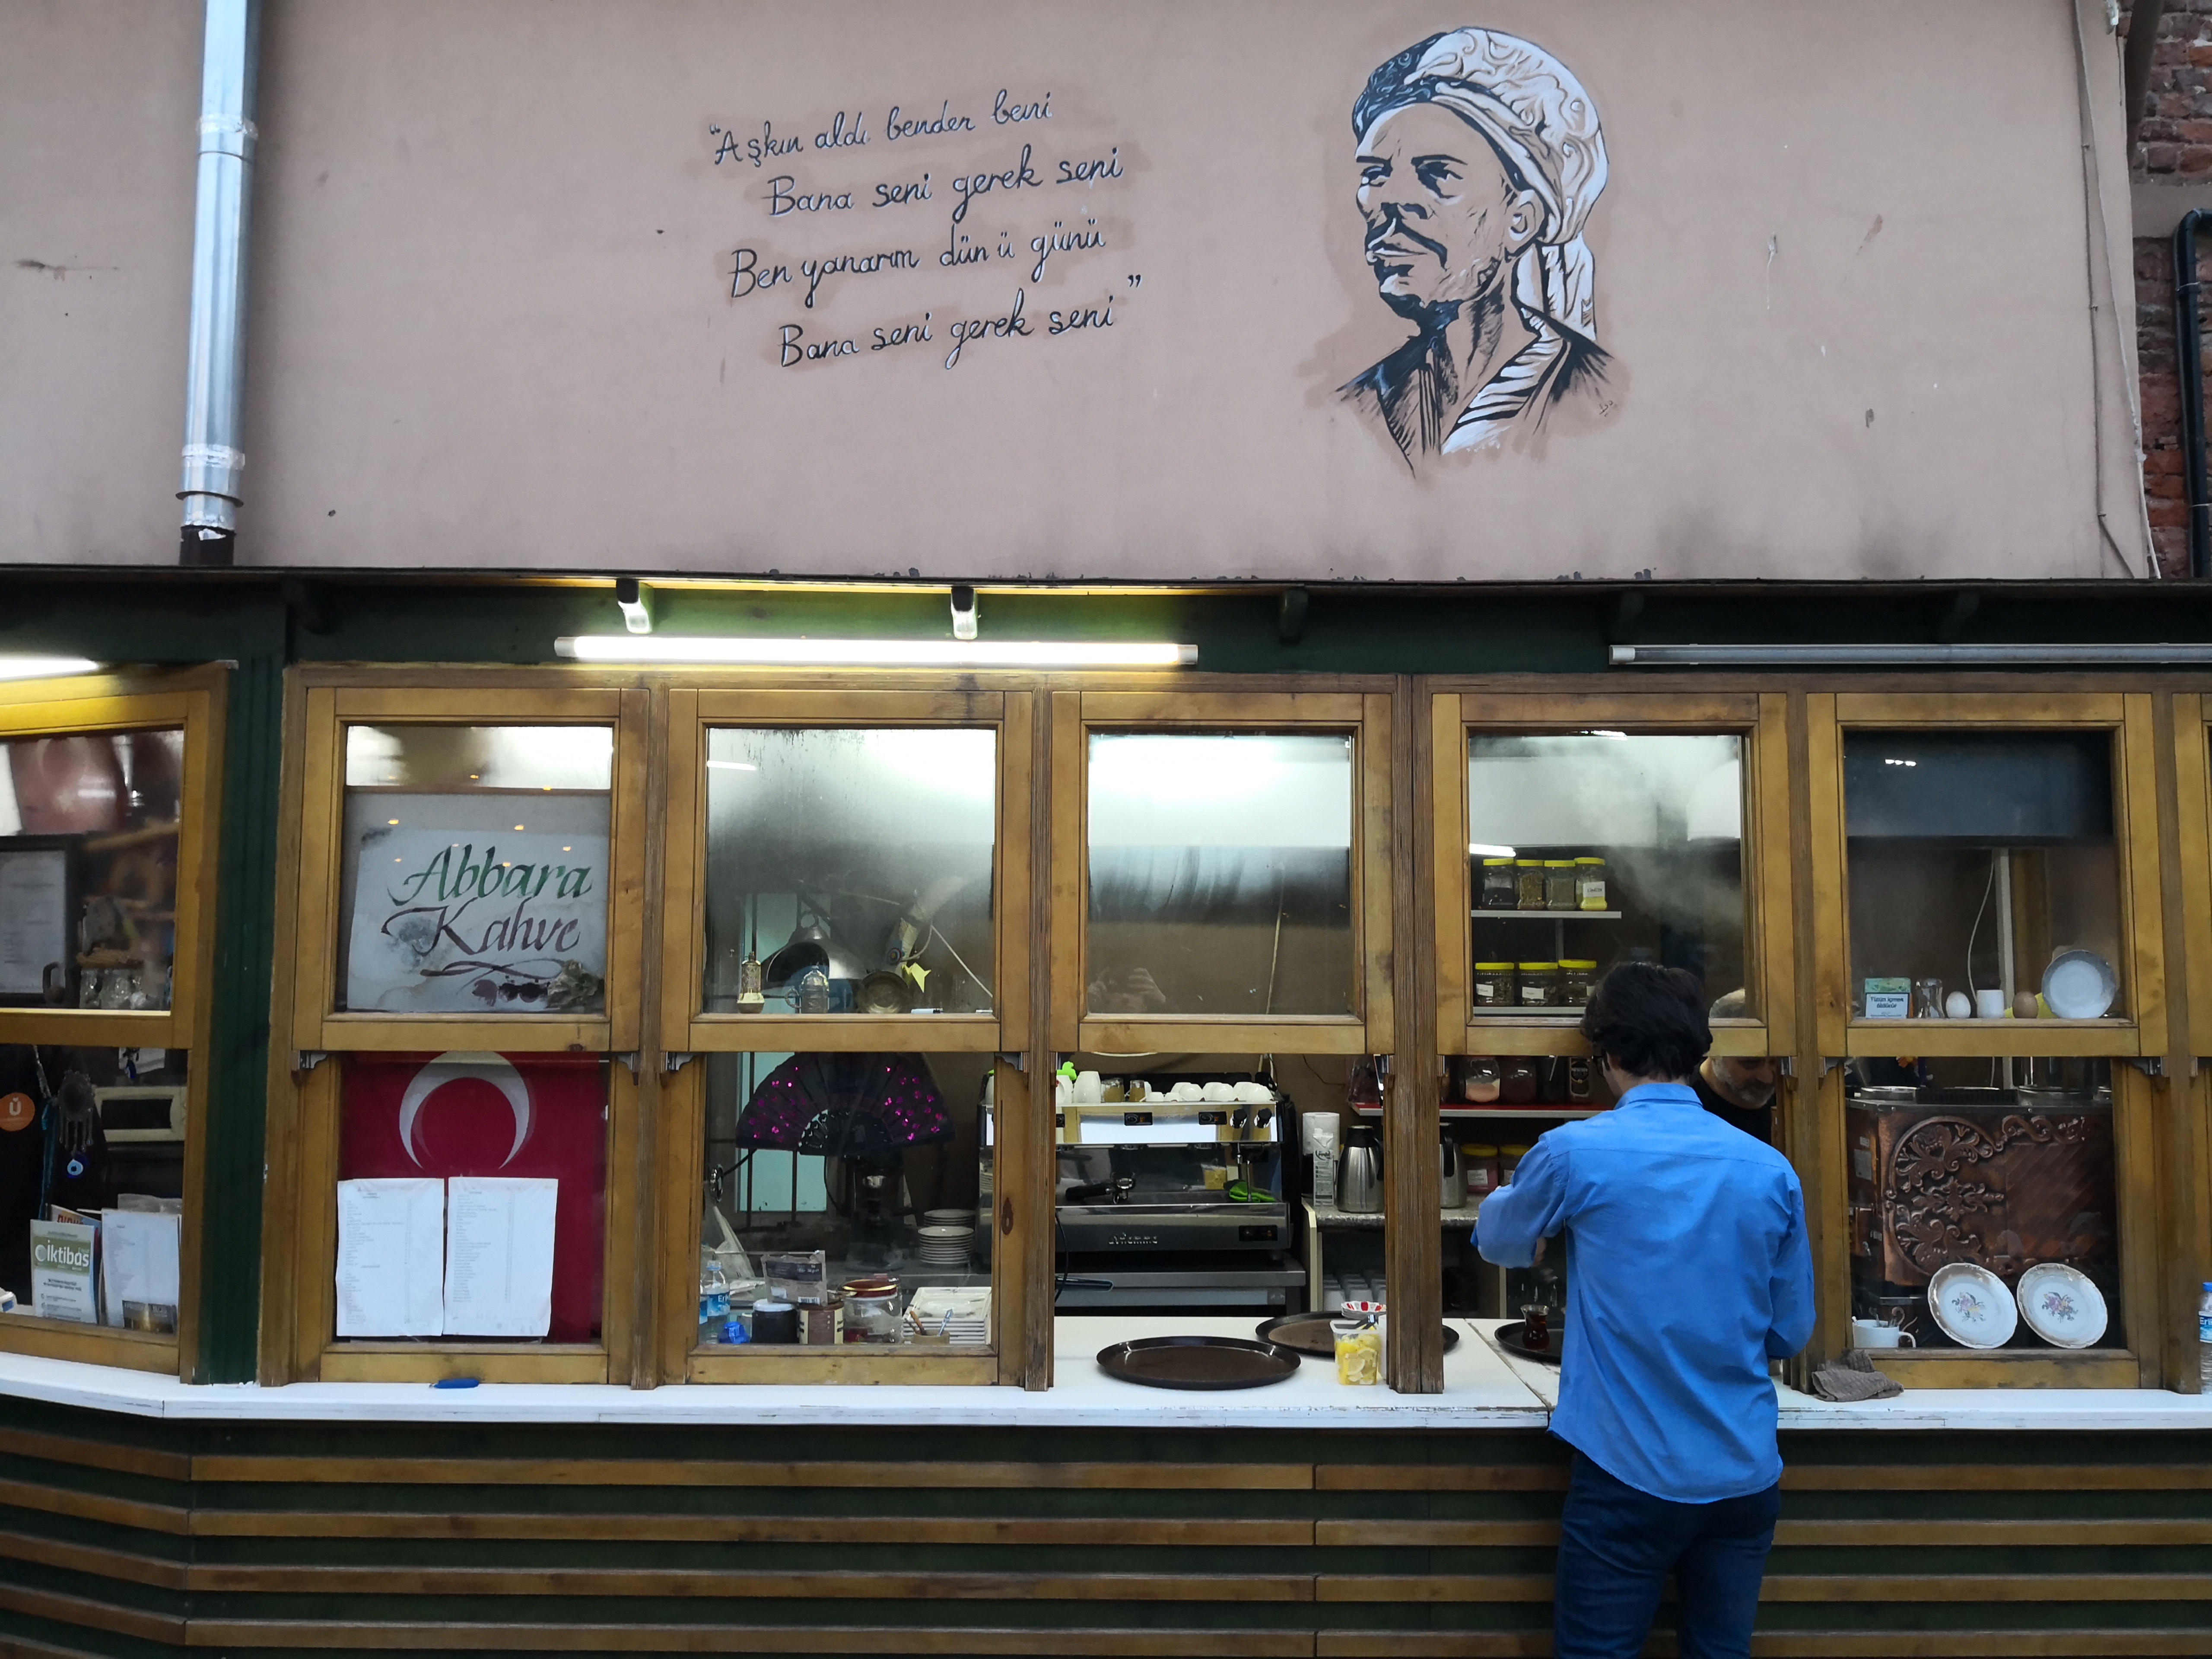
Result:
M1343 387L1407 465L1606 403L1590 250L1597 106L1566 64L1493 29L1407 46L1352 106L1376 292L1413 334Z

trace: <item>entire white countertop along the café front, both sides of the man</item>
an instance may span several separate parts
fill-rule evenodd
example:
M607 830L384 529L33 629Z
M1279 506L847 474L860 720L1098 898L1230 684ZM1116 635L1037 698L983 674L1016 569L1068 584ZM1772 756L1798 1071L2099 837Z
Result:
M1442 1394L1343 1387L1307 1358L1261 1389L1183 1394L1117 1383L1097 1352L1135 1336L1250 1336L1245 1318L1117 1318L1064 1314L1055 1383L1044 1394L927 1385L606 1385L294 1383L186 1387L177 1378L0 1354L0 1398L142 1418L303 1422L787 1422L1035 1429L1542 1429L1559 1400L1559 1367L1498 1349L1498 1321L1453 1321ZM2212 1396L2154 1389L1907 1389L1893 1400L1832 1405L1776 1385L1783 1429L2212 1429Z

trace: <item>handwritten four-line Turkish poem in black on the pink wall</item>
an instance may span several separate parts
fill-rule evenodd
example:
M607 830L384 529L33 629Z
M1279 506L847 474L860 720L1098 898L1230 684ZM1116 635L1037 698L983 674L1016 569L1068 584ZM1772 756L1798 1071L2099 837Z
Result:
M776 369L887 354L958 369L1126 327L1144 288L1119 199L1135 157L1051 88L794 115L706 128L743 192L723 292Z

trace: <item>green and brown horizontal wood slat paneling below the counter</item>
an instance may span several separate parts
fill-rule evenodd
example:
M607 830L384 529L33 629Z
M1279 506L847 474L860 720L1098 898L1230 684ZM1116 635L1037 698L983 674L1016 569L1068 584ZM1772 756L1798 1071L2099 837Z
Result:
M1756 1655L2212 1659L2212 1433L1803 1436L1785 1458ZM75 1626L104 1659L1548 1655L1568 1473L1535 1431L135 1425L108 1444L71 1411L11 1418L0 1467L0 1659L11 1626Z

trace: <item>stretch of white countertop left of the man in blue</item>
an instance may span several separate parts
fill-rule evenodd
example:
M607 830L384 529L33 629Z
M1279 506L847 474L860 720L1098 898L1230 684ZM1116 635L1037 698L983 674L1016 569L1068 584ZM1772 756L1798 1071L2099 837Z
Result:
M1551 1413L1482 1343L1444 1356L1442 1394L1343 1387L1332 1360L1307 1356L1283 1383L1186 1394L1119 1383L1097 1352L1135 1336L1252 1336L1252 1318L1115 1318L1062 1314L1044 1394L969 1385L670 1385L591 1383L292 1383L186 1387L102 1365L0 1354L0 1396L175 1420L347 1422L787 1422L1035 1429L1542 1429Z

